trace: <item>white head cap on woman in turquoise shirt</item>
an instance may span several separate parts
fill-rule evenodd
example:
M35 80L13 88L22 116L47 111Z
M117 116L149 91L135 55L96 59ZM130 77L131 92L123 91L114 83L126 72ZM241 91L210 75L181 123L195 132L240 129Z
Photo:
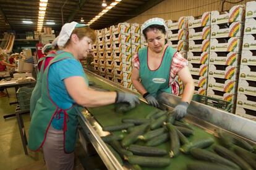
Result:
M61 32L59 33L58 46L65 46L71 33L77 27L85 27L85 24L80 24L74 21L71 23L65 23L61 28Z

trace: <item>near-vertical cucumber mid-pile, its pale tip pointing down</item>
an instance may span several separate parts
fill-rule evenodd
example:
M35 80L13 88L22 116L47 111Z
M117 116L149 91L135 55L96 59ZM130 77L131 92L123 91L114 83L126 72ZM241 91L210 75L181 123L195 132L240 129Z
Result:
M179 143L179 136L174 125L167 123L166 127L169 131L169 135L171 138L170 156L171 158L173 158L174 156L179 155L179 148L181 147Z

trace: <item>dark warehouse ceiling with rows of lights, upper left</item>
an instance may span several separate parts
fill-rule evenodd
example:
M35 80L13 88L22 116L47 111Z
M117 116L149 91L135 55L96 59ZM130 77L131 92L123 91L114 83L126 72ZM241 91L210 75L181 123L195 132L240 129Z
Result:
M161 1L163 0L122 0L103 17L93 22L90 27L100 29L116 25L147 11ZM35 31L39 2L39 0L0 0L0 32ZM80 22L81 17L84 23L87 23L105 8L101 6L102 2L102 0L48 0L43 27L60 30L62 19L64 23L73 20ZM108 5L111 2L114 0L106 0ZM23 20L33 23L23 23ZM46 25L46 22L55 22L55 25Z

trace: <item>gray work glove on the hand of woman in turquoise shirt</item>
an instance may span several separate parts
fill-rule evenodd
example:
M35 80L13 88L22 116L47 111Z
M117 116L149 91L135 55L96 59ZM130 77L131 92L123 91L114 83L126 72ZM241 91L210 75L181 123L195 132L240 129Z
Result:
M131 93L116 92L116 103L129 103L132 108L140 104L138 96Z

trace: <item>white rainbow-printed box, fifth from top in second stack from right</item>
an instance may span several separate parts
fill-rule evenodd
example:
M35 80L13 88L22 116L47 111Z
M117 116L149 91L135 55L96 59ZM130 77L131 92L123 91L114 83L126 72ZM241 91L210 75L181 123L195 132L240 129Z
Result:
M239 67L209 64L208 72L209 77L237 80Z

